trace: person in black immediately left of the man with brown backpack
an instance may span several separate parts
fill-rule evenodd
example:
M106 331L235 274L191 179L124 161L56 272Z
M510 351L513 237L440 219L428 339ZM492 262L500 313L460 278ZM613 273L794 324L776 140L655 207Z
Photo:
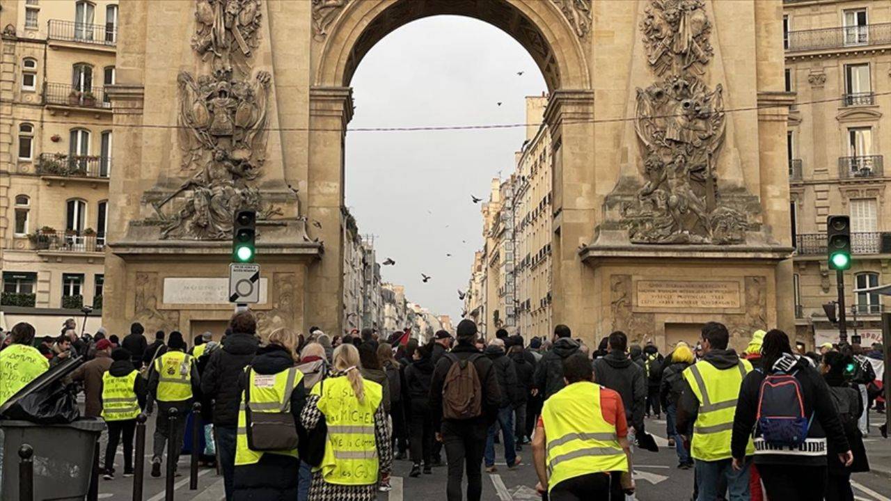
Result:
M433 418L430 413L430 380L433 378L431 360L436 343L429 343L414 350L414 361L405 367L405 393L409 398L409 441L412 459L412 472L408 476L421 476L421 461L424 474L433 472Z

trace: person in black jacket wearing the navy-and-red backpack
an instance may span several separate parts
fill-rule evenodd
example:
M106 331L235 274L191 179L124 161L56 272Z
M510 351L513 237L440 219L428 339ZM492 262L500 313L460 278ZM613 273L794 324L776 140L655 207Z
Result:
M746 374L740 387L731 440L733 468L743 467L748 439L754 429L755 464L767 497L783 501L822 501L827 462L850 466L854 460L829 387L810 364L793 354L789 337L780 330L773 329L764 335L761 354L764 369ZM794 375L801 386L805 416L811 421L807 439L800 447L778 450L765 442L760 427L756 427L761 384L770 374ZM834 456L826 455L827 442L830 449L838 452Z

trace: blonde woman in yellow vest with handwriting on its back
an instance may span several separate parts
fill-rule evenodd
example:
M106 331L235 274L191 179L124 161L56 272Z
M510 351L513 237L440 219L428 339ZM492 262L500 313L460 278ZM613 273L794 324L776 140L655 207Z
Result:
M389 480L393 463L383 390L363 379L356 347L342 344L332 358L331 373L315 385L300 415L309 432L324 420L329 438L322 464L313 468L309 498L375 501L378 479Z

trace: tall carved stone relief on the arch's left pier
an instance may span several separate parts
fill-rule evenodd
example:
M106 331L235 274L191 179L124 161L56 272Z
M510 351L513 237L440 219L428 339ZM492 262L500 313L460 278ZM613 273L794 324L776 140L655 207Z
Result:
M266 160L271 75L250 74L257 47L260 0L198 0L192 49L212 70L177 77L178 144L182 173L190 175L166 196L151 200L147 222L162 239L223 240L237 209L258 219L281 214L262 200L256 181ZM167 206L172 209L165 209Z

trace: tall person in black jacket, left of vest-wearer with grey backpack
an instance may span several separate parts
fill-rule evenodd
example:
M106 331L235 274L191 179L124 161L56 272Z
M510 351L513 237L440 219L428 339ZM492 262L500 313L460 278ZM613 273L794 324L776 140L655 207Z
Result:
M254 359L259 347L257 321L253 314L247 311L237 313L229 325L233 333L226 336L222 349L211 352L208 365L201 375L201 391L205 398L213 401L214 428L227 501L231 501L233 496L235 436L241 404L238 382L244 374L244 367Z

